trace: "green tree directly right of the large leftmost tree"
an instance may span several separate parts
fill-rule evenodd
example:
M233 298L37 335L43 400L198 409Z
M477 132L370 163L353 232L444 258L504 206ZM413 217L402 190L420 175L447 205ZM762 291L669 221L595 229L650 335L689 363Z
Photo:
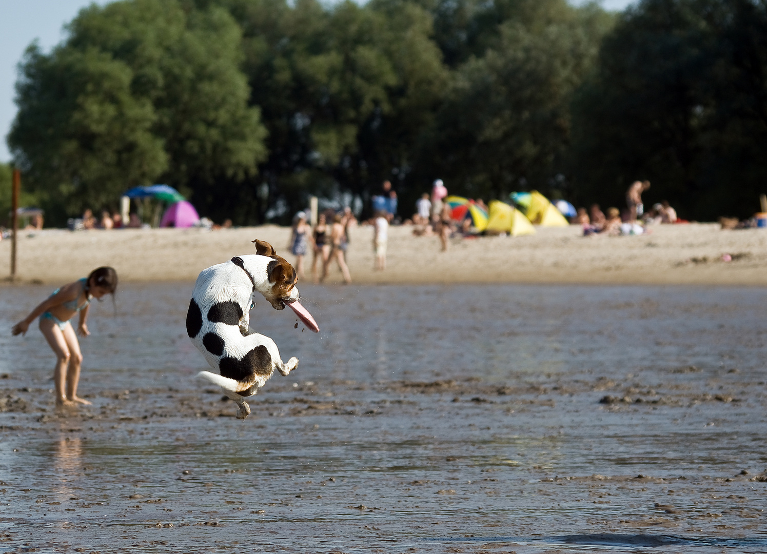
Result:
M260 215L288 213L311 193L367 196L412 163L446 71L430 16L408 2L229 0L243 29L252 104L262 108L269 157L251 190Z

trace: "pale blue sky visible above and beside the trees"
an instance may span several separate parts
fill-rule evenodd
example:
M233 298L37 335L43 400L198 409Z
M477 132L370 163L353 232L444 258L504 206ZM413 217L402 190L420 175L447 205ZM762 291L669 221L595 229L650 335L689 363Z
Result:
M572 2L582 3L578 0ZM81 8L92 3L103 5L108 0L0 0L0 161L11 159L5 137L16 116L13 85L21 54L35 39L44 51L58 44L64 38L64 24L71 21ZM601 5L605 9L621 10L630 3L630 0L603 0Z

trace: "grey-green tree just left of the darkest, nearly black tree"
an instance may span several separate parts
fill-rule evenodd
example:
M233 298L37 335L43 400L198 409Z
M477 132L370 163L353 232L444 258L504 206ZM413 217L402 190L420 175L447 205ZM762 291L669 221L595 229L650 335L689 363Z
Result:
M426 167L457 193L497 198L549 188L569 145L571 96L611 25L597 6L562 0L522 15L498 26L481 58L459 66L426 140Z

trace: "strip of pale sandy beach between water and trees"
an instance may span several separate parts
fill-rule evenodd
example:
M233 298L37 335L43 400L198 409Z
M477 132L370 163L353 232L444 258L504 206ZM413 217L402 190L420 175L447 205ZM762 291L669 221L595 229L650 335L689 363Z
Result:
M251 253L256 238L295 262L286 248L289 236L290 229L278 226L21 232L17 277L54 284L112 265L124 282L191 281L209 265ZM647 236L582 237L578 226L538 228L534 236L453 239L448 252L439 252L436 237L393 227L384 272L373 270L372 238L369 226L353 229L347 260L354 282L767 285L767 229L723 231L697 223L654 226ZM721 260L725 253L732 262ZM10 255L11 241L3 240L2 277L9 275ZM337 268L328 282L341 282Z

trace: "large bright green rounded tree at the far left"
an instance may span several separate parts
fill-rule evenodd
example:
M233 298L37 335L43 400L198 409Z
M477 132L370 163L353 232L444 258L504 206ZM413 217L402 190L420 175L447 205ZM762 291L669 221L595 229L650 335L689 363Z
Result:
M21 64L15 157L69 213L114 205L128 187L160 180L192 193L202 213L225 216L229 206L212 196L255 174L266 154L239 71L240 39L216 6L84 8L62 45L49 55L32 48Z

